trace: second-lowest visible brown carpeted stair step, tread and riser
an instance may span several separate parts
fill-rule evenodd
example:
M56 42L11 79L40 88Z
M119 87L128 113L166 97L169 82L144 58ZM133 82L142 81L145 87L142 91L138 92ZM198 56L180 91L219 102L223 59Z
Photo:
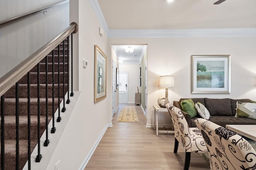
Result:
M30 116L31 129L30 137L31 139L37 139L37 119L36 115ZM51 115L48 116L48 123L52 119ZM4 128L4 138L5 139L16 139L16 117L5 116L5 128ZM46 127L46 117L40 116L40 136L44 133ZM1 137L0 137L1 138ZM19 139L28 139L28 116L19 116Z

